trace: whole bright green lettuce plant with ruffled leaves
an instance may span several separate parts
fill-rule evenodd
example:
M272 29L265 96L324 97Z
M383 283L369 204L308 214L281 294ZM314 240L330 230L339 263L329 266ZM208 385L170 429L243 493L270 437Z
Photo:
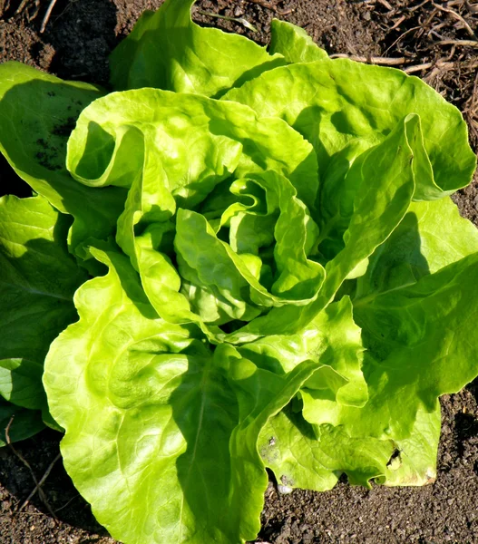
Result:
M478 374L460 112L192 4L142 15L113 92L0 66L0 150L34 190L0 200L0 420L63 429L132 544L254 539L266 467L281 491L434 481L438 397Z

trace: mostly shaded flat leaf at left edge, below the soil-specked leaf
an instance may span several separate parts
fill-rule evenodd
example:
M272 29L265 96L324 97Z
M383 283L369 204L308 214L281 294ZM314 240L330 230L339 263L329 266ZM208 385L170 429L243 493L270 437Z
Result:
M43 197L0 199L0 396L24 408L46 408L44 357L77 317L86 275L66 248L70 225Z

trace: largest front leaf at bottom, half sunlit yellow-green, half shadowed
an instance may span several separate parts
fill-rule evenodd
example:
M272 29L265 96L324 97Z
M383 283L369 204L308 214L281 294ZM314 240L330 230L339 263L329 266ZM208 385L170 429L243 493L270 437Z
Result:
M92 251L110 272L78 290L81 319L44 374L67 471L125 542L254 538L267 486L259 432L316 364L281 377L227 346L212 357L196 327L155 317L125 257Z

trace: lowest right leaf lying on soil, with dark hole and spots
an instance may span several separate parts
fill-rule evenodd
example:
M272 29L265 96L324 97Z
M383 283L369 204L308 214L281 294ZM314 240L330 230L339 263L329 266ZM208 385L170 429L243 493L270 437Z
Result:
M285 491L327 491L342 472L355 485L417 486L434 481L439 438L439 404L419 410L411 436L398 442L351 438L346 427L311 425L288 407L264 427L259 452Z

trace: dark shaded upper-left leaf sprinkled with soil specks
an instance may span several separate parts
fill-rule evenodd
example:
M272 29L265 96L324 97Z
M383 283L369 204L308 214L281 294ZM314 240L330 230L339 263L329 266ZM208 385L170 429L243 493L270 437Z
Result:
M73 215L73 249L112 234L125 199L122 189L93 191L66 170L66 142L78 115L102 92L63 82L21 63L0 65L0 152L35 192Z

